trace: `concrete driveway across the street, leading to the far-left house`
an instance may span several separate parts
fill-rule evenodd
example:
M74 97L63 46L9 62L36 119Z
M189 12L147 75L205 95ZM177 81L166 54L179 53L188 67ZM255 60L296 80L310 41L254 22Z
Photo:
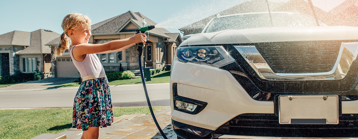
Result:
M15 84L13 86L0 88L0 91L23 90L23 89L42 89L58 86L64 83L72 83L77 78L48 78L40 81L30 81L26 83Z

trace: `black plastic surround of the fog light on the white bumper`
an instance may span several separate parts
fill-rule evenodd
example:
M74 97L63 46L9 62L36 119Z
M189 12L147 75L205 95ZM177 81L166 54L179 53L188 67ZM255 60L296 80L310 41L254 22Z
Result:
M177 108L175 106L175 101L181 101L181 102L185 102L185 103L194 104L194 105L197 105L197 108L195 108L195 110L193 112L190 112L190 111L184 110L184 109L180 109L180 108ZM195 99L178 96L178 88L177 88L176 83L173 84L173 103L174 103L173 104L174 110L178 110L180 112L193 114L193 115L198 114L199 112L201 112L206 107L206 105L208 105L208 103L206 103L206 102L202 102L202 101L198 101L198 100L195 100Z

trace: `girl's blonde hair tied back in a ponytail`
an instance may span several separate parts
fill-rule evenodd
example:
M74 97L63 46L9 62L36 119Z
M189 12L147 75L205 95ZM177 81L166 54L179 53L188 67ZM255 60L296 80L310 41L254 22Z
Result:
M91 19L87 15L82 15L80 13L71 13L66 15L62 20L63 33L60 35L60 43L58 46L55 46L53 50L52 61L56 60L57 57L62 56L62 53L69 49L71 45L70 40L67 36L68 30L75 30L77 27L91 27Z

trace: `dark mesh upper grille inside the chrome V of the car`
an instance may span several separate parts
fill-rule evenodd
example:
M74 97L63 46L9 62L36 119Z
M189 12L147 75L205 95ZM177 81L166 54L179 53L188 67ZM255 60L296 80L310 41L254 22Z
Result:
M341 42L269 42L255 46L275 73L317 73L332 70Z

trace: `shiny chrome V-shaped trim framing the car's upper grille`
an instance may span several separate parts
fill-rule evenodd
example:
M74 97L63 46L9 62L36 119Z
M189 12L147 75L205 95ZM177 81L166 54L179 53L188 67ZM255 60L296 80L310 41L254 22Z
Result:
M256 47L234 46L255 70L257 75L267 80L331 80L343 79L349 71L350 65L357 58L358 42L342 43L337 60L329 72L321 73L274 73Z

